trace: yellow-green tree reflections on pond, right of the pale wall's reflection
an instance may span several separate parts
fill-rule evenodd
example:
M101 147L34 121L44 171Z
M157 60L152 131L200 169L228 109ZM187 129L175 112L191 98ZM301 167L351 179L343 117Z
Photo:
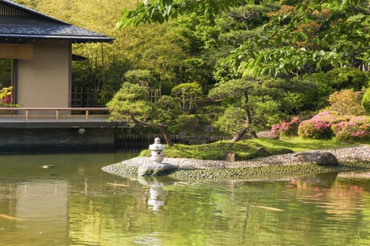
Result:
M366 208L369 180L362 187L356 180L338 179L336 174L291 181L175 182L162 186L160 200L164 204L155 213L148 206L151 186L147 184L127 179L122 182L130 187L113 188L104 182L91 182L85 193L82 181L73 183L70 238L100 245L148 240L159 245L369 242L364 227L370 224L370 210Z

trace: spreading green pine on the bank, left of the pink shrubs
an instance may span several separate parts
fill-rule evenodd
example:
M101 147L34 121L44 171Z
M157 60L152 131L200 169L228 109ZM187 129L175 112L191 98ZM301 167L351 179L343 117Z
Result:
M276 124L283 115L283 98L286 91L295 90L288 80L233 79L217 84L209 91L212 98L223 99L226 108L215 127L229 134L245 131L259 131Z

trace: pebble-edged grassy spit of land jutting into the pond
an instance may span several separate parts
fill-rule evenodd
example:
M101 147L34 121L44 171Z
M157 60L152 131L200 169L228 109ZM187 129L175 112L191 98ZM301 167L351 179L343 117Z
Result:
M261 150L263 149L263 150ZM326 150L337 157L338 166L300 162L289 153L305 150ZM226 153L235 153L235 162L225 160ZM288 155L285 155L288 154ZM149 150L139 157L104 167L104 171L137 177L137 167L151 162ZM164 151L164 162L177 169L166 173L173 179L274 179L340 171L370 169L369 144L343 143L332 139L303 138L250 139L238 143L219 141L203 145L176 144Z

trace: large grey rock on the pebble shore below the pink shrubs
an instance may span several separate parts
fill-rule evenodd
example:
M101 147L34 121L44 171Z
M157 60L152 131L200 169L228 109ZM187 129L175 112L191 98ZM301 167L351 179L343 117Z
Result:
M311 152L301 152L294 155L301 162L310 162L319 165L330 165L338 166L338 160L335 155L324 151L311 151Z

